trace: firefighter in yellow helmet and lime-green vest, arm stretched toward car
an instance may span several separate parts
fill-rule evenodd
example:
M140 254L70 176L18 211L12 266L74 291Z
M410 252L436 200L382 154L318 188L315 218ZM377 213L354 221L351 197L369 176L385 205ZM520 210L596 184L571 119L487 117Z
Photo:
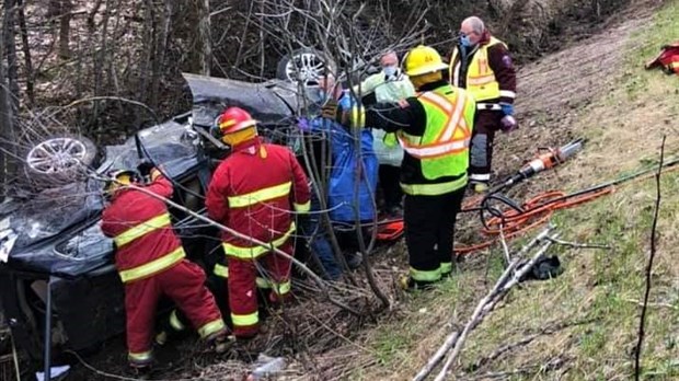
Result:
M401 187L410 273L405 288L427 288L452 272L452 244L469 169L476 104L465 90L446 82L448 66L431 47L405 57L405 73L418 94L338 113L343 123L396 132L405 154ZM362 111L362 112L361 112Z

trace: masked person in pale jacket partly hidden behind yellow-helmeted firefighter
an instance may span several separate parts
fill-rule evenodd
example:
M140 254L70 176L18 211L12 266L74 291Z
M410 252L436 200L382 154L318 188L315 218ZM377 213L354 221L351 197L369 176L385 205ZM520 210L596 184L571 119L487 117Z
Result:
M398 102L415 95L415 88L399 66L399 56L395 51L388 51L380 57L382 71L366 78L360 85L354 86L354 92L361 96L364 105L373 103ZM379 186L384 197L383 210L388 215L401 215L403 193L399 186L403 148L399 146L394 134L387 134L382 129L372 129L372 148L377 155L379 168Z

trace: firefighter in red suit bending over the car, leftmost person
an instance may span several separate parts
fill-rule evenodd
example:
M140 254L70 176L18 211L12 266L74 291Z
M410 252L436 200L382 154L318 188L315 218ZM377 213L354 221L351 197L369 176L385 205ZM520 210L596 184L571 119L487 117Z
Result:
M115 265L125 286L128 360L140 374L150 370L156 304L163 295L218 351L227 339L215 298L204 286L205 273L185 258L160 198L172 196L172 184L157 169L150 172L152 182L146 186L136 171L114 173L105 189L111 204L102 215L102 231L115 242Z

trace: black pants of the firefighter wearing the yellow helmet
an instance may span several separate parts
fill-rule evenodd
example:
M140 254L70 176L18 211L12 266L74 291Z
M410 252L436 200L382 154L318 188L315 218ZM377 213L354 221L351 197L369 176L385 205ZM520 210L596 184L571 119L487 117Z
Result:
M463 196L464 187L438 196L405 195L405 243L414 280L436 281L442 268L450 272L454 222Z

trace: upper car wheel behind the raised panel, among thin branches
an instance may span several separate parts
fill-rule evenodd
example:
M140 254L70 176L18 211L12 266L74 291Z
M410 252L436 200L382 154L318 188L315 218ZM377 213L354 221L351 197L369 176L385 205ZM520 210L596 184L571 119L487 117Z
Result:
M298 49L286 55L278 61L276 78L302 82L304 85L317 85L319 77L335 72L335 62L314 49Z

